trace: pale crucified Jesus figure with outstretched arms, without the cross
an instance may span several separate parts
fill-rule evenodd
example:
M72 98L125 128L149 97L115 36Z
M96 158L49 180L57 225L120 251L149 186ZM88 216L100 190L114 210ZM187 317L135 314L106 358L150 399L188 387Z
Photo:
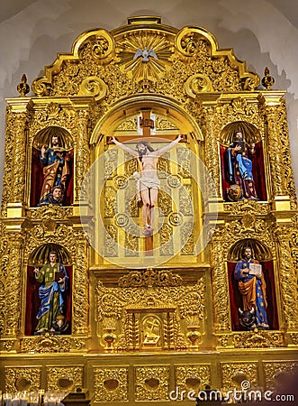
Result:
M115 137L111 142L119 146L124 152L130 153L138 159L140 165L140 176L137 179L137 189L143 204L142 220L144 225L144 235L153 234L154 228L154 208L158 202L158 189L160 180L158 179L158 158L173 148L176 143L183 139L183 135L178 135L176 140L168 143L166 146L154 150L149 143L140 141L137 143L136 150L132 150L124 143L120 143Z

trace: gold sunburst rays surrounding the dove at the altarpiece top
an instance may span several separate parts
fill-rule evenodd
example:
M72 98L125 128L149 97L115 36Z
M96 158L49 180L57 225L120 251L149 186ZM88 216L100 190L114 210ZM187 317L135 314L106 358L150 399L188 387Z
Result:
M117 60L123 72L136 81L157 80L171 65L173 44L166 35L140 32L127 35L116 47ZM156 58L134 58L139 50L152 50Z

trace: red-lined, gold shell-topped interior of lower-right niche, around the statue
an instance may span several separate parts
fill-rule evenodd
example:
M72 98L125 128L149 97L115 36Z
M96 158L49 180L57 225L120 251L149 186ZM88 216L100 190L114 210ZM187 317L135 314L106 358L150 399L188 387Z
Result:
M267 308L266 315L268 319L269 329L278 329L278 316L276 306L276 290L275 290L275 275L274 275L274 262L270 250L253 238L244 238L230 247L227 256L228 261L228 277L229 277L229 290L230 290L230 318L231 329L233 331L244 330L239 323L239 308L243 309L242 298L239 293L238 281L234 277L234 270L236 263L243 258L243 252L246 247L251 248L252 258L262 265L264 279L266 282L266 300Z

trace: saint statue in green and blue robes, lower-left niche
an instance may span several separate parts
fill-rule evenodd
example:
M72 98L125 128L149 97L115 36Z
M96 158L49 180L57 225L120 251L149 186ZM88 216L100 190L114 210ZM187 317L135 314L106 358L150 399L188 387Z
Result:
M68 289L68 272L63 263L57 262L56 252L50 252L50 263L34 269L36 281L41 282L40 309L36 334L47 331L61 334L68 326L65 323L64 293Z

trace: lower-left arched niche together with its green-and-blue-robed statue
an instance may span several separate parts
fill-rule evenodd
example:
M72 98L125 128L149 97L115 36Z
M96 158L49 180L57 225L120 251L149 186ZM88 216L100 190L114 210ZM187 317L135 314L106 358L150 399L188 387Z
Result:
M46 244L28 260L25 335L70 334L72 265L64 247Z

